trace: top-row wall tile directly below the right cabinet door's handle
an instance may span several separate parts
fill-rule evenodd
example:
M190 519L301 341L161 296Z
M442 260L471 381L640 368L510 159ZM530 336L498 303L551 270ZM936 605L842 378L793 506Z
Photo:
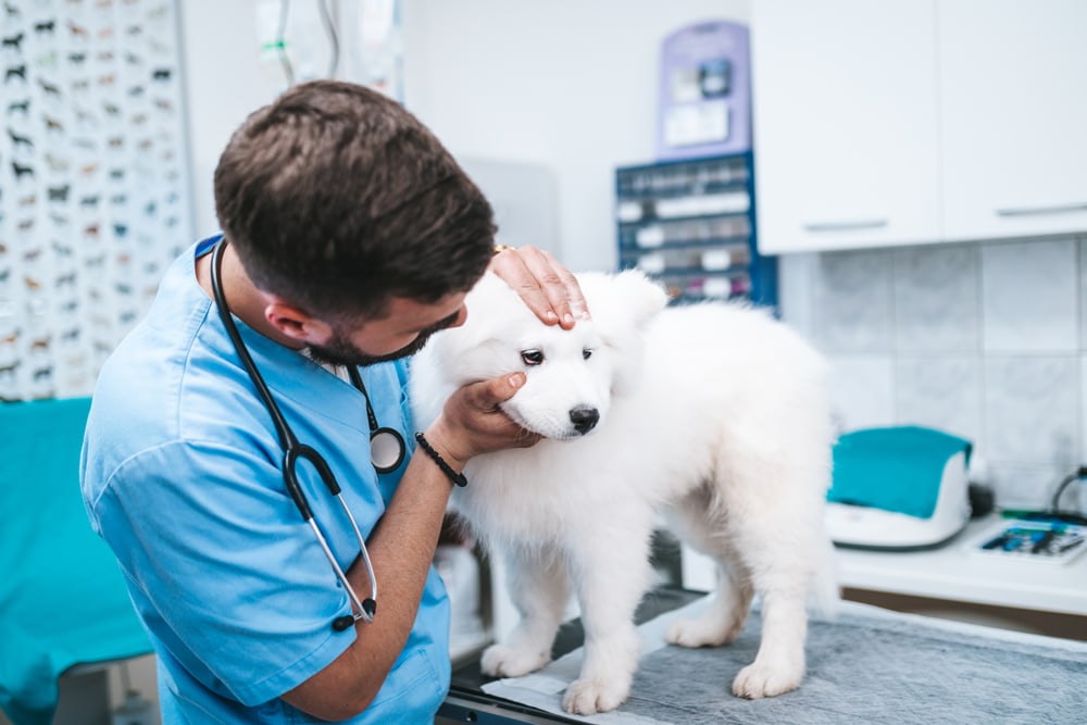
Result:
M982 316L987 352L1079 349L1076 240L982 248Z

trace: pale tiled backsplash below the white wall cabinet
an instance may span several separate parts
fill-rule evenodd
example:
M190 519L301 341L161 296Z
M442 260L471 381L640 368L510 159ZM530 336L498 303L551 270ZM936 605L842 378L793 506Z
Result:
M967 438L975 477L1008 508L1047 505L1087 463L1087 237L779 265L782 316L829 359L841 429L917 424Z

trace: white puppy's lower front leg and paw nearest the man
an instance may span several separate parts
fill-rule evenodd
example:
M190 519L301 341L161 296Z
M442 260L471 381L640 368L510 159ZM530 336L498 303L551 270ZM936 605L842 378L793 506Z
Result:
M502 642L480 659L485 674L520 677L551 661L551 645L570 600L570 578L558 557L505 558L507 577L521 620Z

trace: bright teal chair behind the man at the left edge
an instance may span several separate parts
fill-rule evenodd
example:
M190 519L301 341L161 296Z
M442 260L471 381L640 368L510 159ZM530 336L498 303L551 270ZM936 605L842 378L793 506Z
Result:
M0 403L0 708L14 725L53 722L65 672L151 651L79 493L89 410Z

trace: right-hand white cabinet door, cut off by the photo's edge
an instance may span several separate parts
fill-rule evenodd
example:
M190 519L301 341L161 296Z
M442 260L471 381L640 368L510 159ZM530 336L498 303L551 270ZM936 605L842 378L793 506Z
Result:
M940 0L945 234L1087 229L1087 2Z

